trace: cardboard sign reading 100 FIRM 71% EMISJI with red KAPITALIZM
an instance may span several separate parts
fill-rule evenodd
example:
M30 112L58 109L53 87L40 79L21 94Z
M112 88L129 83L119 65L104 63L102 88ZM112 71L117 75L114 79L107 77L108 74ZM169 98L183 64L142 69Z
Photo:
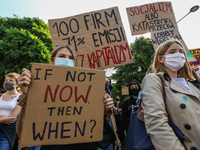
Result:
M132 63L132 56L117 7L73 17L49 20L53 46L70 44L77 65L106 69Z

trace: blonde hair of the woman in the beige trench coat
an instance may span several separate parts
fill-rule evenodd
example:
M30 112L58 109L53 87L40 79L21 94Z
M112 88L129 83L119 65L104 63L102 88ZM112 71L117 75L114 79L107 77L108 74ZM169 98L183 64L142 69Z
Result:
M192 75L192 69L190 67L190 64L186 58L185 49L182 45L182 43L177 39L170 39L162 43L156 50L154 61L153 61L153 70L155 73L157 72L165 72L165 66L164 64L161 64L158 61L158 56L162 56L166 53L168 48L174 44L177 43L183 48L183 54L185 55L185 65L177 72L178 78L185 78L188 80L194 80L194 76Z

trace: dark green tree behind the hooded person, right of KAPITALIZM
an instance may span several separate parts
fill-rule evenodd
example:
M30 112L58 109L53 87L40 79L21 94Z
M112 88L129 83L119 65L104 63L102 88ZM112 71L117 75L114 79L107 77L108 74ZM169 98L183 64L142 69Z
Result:
M130 50L134 63L115 67L116 73L111 76L111 79L116 81L113 84L113 96L120 95L121 99L127 97L122 96L122 87L128 87L133 79L142 82L154 55L153 44L149 38L136 38L135 42L130 44Z

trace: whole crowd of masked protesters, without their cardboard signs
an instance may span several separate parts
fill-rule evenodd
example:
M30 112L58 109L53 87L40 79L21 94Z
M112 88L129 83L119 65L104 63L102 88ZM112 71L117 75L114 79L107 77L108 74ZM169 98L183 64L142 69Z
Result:
M69 45L58 46L51 56L52 65L76 66L76 52ZM9 73L5 76L0 94L0 149L15 149L21 134L25 115L27 91L31 83L31 72L22 69L21 75ZM163 97L163 87L165 97ZM112 84L105 79L104 130L106 141L67 145L40 145L21 149L28 150L123 150L123 143L129 131L130 115L138 110L139 103L144 109L147 134L158 150L200 149L200 79L191 68L183 45L178 40L168 40L155 51L152 65L142 83L133 79L128 86L128 98L112 98ZM19 90L20 89L20 90ZM114 99L114 100L113 100ZM115 102L115 103L114 103ZM111 115L117 126L112 126ZM180 142L168 120L184 133L188 140ZM17 132L16 132L17 130ZM115 136L117 133L117 137ZM132 133L134 134L134 133ZM104 139L103 139L104 140ZM127 139L126 139L127 140ZM103 144L102 144L103 143ZM17 146L18 147L18 146ZM131 148L130 148L131 150Z

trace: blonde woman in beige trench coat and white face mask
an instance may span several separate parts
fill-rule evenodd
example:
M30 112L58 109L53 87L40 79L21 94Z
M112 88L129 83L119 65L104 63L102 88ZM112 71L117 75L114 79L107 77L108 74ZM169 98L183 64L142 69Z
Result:
M180 41L168 40L158 47L153 70L155 74L143 79L142 101L147 133L155 149L200 149L200 91L188 82L194 77ZM188 141L181 144L169 119L189 138Z

